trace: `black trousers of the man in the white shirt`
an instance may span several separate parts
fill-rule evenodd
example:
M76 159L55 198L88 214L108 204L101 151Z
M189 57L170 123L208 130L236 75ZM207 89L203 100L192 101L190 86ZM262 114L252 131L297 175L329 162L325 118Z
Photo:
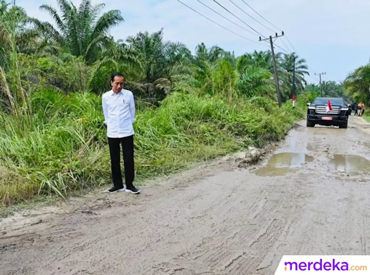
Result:
M123 188L121 174L121 150L122 145L123 162L125 167L126 187L131 187L134 181L134 136L125 138L108 138L109 151L111 155L111 170L114 187Z

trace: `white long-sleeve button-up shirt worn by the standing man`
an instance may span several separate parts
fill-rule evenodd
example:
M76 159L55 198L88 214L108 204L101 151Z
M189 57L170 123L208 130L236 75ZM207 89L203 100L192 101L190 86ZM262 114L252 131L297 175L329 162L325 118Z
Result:
M116 95L110 90L102 95L101 103L108 138L134 135L135 101L131 91L122 89Z

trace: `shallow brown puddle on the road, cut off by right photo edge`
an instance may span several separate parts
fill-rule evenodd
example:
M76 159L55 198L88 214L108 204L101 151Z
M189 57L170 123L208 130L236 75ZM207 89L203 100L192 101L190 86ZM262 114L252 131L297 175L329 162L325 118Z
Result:
M335 170L344 170L351 175L359 175L360 172L370 172L370 161L356 155L334 155L329 162Z

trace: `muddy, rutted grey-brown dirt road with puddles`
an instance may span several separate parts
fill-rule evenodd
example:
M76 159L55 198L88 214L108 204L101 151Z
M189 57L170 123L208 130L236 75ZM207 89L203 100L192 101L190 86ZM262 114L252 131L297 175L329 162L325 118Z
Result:
M215 163L139 196L3 219L0 274L270 275L283 254L369 255L369 134L359 117L303 121L247 169Z

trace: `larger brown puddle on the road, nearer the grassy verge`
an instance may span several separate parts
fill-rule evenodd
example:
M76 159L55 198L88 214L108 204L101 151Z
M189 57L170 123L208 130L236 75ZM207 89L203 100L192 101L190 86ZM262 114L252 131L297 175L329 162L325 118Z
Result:
M312 156L305 153L277 153L268 160L265 166L256 170L255 174L260 176L283 176L302 167L304 163L313 160Z

